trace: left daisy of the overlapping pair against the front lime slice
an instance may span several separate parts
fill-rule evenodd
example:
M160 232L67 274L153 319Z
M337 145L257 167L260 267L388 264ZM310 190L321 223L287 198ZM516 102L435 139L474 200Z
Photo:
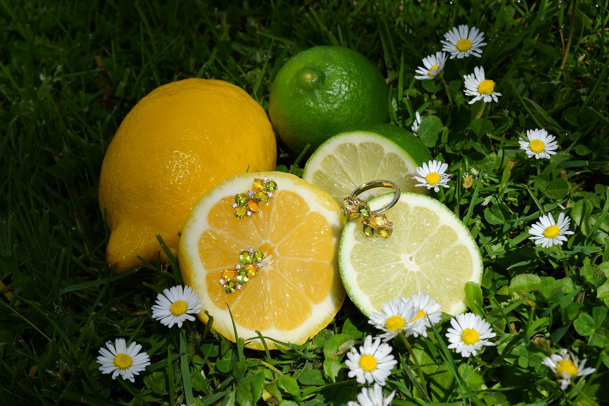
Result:
M420 329L424 322L415 311L415 305L406 297L398 297L393 301L382 304L384 310L379 313L372 313L368 323L384 333L377 335L385 343L395 338L399 333L404 333L404 337L409 337L414 333L414 329ZM418 309L417 309L418 310Z

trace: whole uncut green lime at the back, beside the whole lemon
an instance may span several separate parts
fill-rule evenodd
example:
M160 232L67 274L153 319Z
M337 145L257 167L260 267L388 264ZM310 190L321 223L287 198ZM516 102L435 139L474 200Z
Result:
M387 84L379 69L353 49L316 46L294 55L270 88L269 115L288 148L314 151L353 126L389 121Z

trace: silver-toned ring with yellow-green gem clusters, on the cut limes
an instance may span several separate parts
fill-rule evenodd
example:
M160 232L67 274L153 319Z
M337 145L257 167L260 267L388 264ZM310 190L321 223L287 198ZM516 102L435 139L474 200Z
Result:
M384 205L376 210L370 210L367 202L358 199L357 195L373 188L392 188L395 190L395 195L389 204ZM391 180L370 180L363 185L355 188L351 194L343 199L342 212L350 219L363 217L362 231L366 237L384 237L388 238L393 231L393 223L389 221L382 212L392 208L400 200L400 188Z

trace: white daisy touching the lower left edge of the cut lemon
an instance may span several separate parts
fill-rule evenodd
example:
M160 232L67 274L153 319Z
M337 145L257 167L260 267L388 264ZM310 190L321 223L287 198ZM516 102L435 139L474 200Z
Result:
M157 304L152 306L152 318L158 319L161 324L171 327L177 324L182 327L182 323L188 319L194 321L194 316L189 313L200 313L203 304L195 288L180 285L171 287L158 294Z

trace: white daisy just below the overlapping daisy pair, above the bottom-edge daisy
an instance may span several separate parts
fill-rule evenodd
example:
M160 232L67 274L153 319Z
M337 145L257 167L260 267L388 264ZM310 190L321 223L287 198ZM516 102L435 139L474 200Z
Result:
M385 379L391 375L391 369L398 363L391 355L391 350L389 344L381 344L380 338L375 338L372 343L372 336L368 335L364 345L359 347L359 352L354 347L347 352L349 359L345 360L345 364L350 369L349 377L356 377L356 381L362 385L366 382L376 382L385 386Z

